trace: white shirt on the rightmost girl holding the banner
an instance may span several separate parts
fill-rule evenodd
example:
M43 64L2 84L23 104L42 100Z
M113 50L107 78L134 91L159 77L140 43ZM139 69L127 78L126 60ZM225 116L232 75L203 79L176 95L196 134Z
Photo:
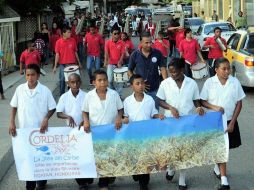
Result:
M232 119L237 102L244 97L240 82L232 76L229 76L225 85L221 84L217 75L207 79L200 94L202 100L223 107L228 121Z

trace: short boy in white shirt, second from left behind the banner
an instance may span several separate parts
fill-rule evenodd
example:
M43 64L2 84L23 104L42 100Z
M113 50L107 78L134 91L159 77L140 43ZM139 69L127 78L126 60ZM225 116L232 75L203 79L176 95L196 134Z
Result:
M86 93L80 89L80 75L72 73L68 77L68 86L70 90L65 92L59 99L56 107L57 117L66 119L67 125L70 127L83 125L82 105ZM92 178L77 178L79 189L87 189L88 184L93 183Z

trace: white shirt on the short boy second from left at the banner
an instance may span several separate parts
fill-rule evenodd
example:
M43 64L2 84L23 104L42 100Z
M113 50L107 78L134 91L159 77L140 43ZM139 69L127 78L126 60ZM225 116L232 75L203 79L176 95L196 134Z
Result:
M63 112L68 116L71 116L76 125L83 121L82 118L82 105L84 103L86 93L79 89L77 96L73 96L71 89L68 92L65 92L59 99L56 106L56 112ZM66 121L69 125L68 120Z

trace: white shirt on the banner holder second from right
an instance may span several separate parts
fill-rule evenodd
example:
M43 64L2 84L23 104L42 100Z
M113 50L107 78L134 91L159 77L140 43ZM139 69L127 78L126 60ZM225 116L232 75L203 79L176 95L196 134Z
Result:
M180 116L189 115L194 113L193 100L199 100L198 85L193 79L184 76L182 86L179 89L176 82L169 77L161 82L157 97L176 108ZM170 110L165 110L165 115L172 117Z

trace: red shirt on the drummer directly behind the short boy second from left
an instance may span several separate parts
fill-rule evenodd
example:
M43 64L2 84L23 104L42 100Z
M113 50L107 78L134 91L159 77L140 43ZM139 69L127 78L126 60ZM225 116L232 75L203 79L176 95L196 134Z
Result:
M59 53L59 64L76 63L75 53L78 51L75 39L60 38L56 41L55 52Z

